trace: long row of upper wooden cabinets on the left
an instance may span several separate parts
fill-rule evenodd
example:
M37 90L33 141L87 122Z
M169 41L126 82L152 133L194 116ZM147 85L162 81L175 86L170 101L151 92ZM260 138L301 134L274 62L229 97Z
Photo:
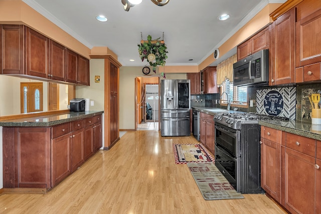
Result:
M0 24L1 74L89 85L89 59L25 25Z

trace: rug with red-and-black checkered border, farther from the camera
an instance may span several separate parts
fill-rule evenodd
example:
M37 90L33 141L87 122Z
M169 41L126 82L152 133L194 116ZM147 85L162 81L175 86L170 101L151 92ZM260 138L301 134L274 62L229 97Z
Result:
M214 158L201 143L173 144L176 163L212 162Z

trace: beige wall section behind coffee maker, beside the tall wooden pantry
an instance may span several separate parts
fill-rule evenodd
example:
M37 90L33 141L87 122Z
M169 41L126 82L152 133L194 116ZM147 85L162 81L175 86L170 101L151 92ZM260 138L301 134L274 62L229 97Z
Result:
M89 98L94 106L89 110L104 110L104 59L90 59L90 86L76 86L77 98ZM100 76L100 82L95 82L95 75Z

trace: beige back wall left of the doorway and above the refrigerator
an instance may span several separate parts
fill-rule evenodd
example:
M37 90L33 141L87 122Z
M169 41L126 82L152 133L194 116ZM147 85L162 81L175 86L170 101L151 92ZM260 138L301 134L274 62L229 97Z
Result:
M135 77L158 76L143 75L140 66L122 66L119 68L119 128L135 128ZM153 73L151 71L151 73ZM160 79L164 79L161 77ZM186 73L166 73L166 79L186 79Z

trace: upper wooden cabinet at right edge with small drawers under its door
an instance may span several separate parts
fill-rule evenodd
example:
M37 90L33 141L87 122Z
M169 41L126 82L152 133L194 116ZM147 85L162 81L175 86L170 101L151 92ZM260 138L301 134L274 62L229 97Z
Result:
M298 20L296 30L296 82L321 79L321 9Z

